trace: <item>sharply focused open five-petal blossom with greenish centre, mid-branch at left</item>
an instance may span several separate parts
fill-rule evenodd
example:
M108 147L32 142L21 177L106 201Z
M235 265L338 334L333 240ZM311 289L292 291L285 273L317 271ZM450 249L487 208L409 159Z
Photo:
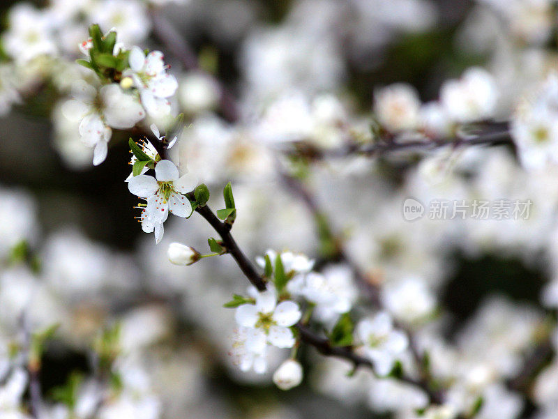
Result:
M196 185L197 176L191 173L179 176L179 169L173 162L161 160L155 167L155 177L135 176L128 182L128 189L147 201L142 221L153 222L157 227L167 219L169 211L183 218L190 216L193 208L183 194L193 191Z

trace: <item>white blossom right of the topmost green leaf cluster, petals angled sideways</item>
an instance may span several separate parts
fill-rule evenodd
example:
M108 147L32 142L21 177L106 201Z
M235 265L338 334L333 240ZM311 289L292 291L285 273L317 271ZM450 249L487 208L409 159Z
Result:
M156 118L170 114L167 98L174 95L178 83L173 75L167 73L163 53L151 51L145 56L140 47L133 47L128 61L130 69L124 75L134 80L146 111Z

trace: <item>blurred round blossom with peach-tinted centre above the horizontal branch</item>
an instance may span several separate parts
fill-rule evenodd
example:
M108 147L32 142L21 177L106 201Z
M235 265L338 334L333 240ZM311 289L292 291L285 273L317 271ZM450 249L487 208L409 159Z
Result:
M374 95L374 112L379 122L389 130L416 128L420 107L418 93L409 84L391 84L378 89Z

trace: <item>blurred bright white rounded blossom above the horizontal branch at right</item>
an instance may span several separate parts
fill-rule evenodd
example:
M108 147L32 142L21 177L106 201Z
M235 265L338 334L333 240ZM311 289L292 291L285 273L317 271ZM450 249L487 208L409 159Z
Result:
M482 68L469 68L460 79L448 80L440 91L440 101L451 119L471 122L495 112L498 99L494 77Z

